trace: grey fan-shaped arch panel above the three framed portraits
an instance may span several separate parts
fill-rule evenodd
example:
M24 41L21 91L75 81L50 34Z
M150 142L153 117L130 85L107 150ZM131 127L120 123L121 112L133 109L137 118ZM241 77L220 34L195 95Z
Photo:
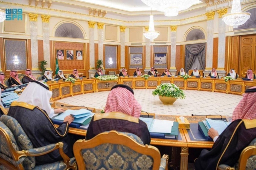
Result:
M55 31L55 37L69 37L69 38L81 38L84 39L84 35L73 23L63 23Z

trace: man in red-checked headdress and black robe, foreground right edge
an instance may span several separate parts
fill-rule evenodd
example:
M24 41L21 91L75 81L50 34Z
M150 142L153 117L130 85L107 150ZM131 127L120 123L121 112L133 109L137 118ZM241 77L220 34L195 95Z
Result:
M214 129L209 130L208 135L215 143L210 151L202 150L195 160L196 170L216 170L220 164L232 167L241 151L256 138L256 86L245 91L233 112L232 121L220 136Z

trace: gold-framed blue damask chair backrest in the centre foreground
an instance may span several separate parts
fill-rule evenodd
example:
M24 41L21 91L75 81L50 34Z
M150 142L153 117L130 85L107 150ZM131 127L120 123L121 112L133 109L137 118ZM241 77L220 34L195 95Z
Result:
M132 134L115 130L100 133L86 141L78 140L73 151L79 169L147 169L160 167L160 152L156 147L143 145L132 139ZM134 137L136 136L136 137Z

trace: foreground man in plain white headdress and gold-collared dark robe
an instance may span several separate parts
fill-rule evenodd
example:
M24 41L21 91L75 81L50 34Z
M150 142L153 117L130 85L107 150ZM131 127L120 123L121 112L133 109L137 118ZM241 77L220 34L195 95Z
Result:
M64 112L64 109L51 109L49 100L52 92L40 81L31 81L24 89L18 101L11 104L8 115L15 118L28 135L33 147L43 147L49 144L63 142L64 153L73 157L73 135L68 134L69 124L74 120L71 115L64 118L56 128L50 119L54 113ZM36 165L48 164L62 160L59 150L42 156L36 156Z

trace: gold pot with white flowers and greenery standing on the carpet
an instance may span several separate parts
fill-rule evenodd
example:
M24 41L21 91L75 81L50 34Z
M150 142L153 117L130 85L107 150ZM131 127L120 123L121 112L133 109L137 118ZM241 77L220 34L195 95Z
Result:
M163 83L157 86L152 95L158 95L160 101L165 105L172 105L177 98L184 99L185 93L178 86L172 83Z

